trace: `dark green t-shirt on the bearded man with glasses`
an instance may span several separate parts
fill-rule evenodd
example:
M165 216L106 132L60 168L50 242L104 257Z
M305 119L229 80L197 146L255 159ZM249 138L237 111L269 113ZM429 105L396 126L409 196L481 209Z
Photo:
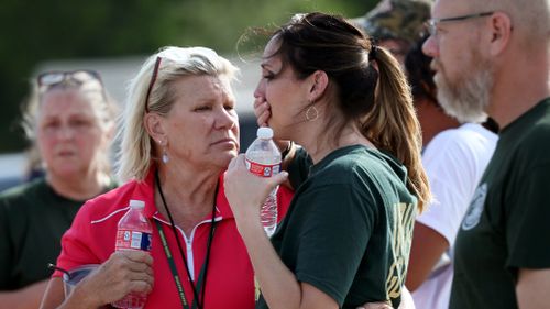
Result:
M517 308L518 268L550 267L550 99L506 126L462 221L450 308Z

